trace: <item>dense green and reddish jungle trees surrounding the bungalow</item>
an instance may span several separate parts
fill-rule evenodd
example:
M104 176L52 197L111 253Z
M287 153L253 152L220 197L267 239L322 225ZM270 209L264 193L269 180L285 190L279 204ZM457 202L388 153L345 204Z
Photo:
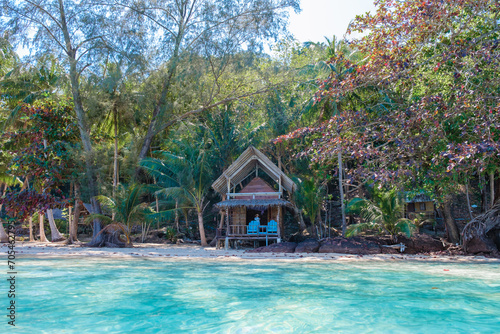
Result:
M325 201L397 189L432 197L458 243L457 198L469 221L500 195L498 1L379 0L343 39L304 44L287 33L298 0L0 8L5 221L85 202L90 245L117 242L105 226L180 219L206 245L210 185L249 145L295 178L294 220L313 234Z

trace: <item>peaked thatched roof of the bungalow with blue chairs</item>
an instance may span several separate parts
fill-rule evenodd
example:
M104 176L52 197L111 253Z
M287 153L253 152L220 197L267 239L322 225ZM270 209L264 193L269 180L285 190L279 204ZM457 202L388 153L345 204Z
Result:
M228 179L231 180L231 187L233 187L240 183L257 166L276 182L281 178L281 184L286 191L292 193L297 189L295 183L293 183L283 171L253 146L248 147L245 152L243 152L238 159L236 159L217 180L215 180L212 184L212 188L221 195L226 194Z

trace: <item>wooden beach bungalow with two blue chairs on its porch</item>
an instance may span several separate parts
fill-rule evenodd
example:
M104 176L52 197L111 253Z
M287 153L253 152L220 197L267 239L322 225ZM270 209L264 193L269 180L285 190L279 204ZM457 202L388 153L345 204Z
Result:
M255 147L250 146L212 184L222 196L217 245L236 240L280 242L283 235L283 208L296 189L295 183ZM224 224L222 224L224 222Z

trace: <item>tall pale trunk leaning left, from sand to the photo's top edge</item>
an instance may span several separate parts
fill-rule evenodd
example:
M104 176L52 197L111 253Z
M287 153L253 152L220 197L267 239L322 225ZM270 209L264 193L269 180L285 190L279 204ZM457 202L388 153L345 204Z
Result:
M92 142L90 140L90 128L88 126L87 117L85 111L83 109L83 103L80 95L80 83L79 76L80 73L77 68L77 56L76 49L73 48L71 43L71 35L69 33L68 25L66 22L66 13L64 10L63 0L58 0L59 2L59 13L61 16L61 30L64 36L64 42L66 45L66 54L68 56L69 62L69 77L71 82L71 93L73 95L73 104L75 106L75 114L78 123L78 129L80 131L80 138L82 140L83 150L85 151L85 169L87 174L88 181L88 191L90 196L90 203L92 205L93 213L101 213L101 206L95 199L98 195L97 189L97 178L96 171L94 166L94 151L92 148ZM94 234L92 237L92 241L89 243L89 246L97 246L101 245L104 239L101 231L101 222L99 220L94 220Z

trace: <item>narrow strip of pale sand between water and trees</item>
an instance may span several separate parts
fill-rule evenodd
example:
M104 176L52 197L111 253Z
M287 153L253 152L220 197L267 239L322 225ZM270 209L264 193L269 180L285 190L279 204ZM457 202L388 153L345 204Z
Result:
M0 246L1 256L7 256L7 244ZM217 260L286 260L286 261L438 261L500 263L500 259L484 256L374 254L351 255L337 253L249 253L245 250L224 250L196 245L136 244L133 248L90 248L57 243L16 242L16 257L146 257Z

